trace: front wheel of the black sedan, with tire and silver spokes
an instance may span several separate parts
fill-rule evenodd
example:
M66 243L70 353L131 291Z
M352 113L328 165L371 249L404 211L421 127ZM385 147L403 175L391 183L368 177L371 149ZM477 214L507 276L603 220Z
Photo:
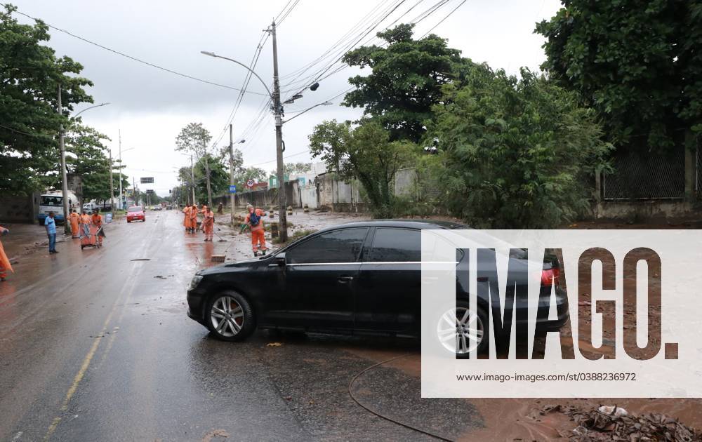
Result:
M246 297L231 290L210 298L205 323L214 337L230 342L244 340L256 330L251 304Z

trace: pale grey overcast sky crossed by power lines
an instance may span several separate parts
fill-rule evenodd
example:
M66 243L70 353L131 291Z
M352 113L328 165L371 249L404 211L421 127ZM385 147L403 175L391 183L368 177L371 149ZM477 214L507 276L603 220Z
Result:
M295 2L292 0L291 4ZM107 48L234 88L241 88L246 70L227 60L201 55L200 51L212 51L249 65L263 29L289 4L287 0L12 0L11 3L22 13L41 18L49 25ZM362 42L400 15L406 13L398 22L409 22L437 3L438 0L404 1ZM423 35L460 3L461 0L449 0L417 25L416 36ZM371 16L376 16L392 4L395 0L299 0L277 29L282 91L300 86L291 84L295 78L291 73L296 74L298 69L330 48L340 49L334 43L366 15L372 13ZM521 66L538 69L544 59L543 38L533 34L534 23L550 18L559 6L557 0L469 0L433 32L449 39L449 46L460 49L463 56L475 62L487 62L491 67L503 68L509 73L517 73ZM409 8L413 9L407 13ZM18 20L29 22L21 16ZM364 29L366 27L355 29L349 35L358 38ZM203 123L212 133L213 141L223 135L218 146L228 145L229 135L223 133L223 129L239 92L163 72L55 29L51 30L48 44L58 56L68 55L84 65L84 76L95 83L89 90L95 103L111 103L88 110L82 116L85 123L112 139L107 145L115 157L121 131L122 159L128 166L126 173L130 180L135 177L138 182L140 177L152 176L155 182L150 188L161 196L167 195L168 189L178 183L176 168L189 165L186 156L174 151L176 136L187 123ZM296 82L306 79L334 59L315 65ZM270 86L270 39L260 53L256 72ZM364 71L347 68L320 81L316 92L307 90L303 98L286 106L286 117L342 93L350 87L347 79L355 72ZM301 84L304 86L304 83ZM233 120L234 140L246 138L244 144L237 146L244 152L245 166L273 170L275 137L272 114L267 112L260 124L254 124L265 101L264 95L256 93L265 93L265 89L254 78L248 90L253 93L244 94ZM289 94L284 92L282 95L286 98ZM309 148L307 135L315 124L324 119L355 119L360 115L359 109L340 106L342 98L334 98L333 105L319 106L284 125L286 162L310 161L306 152ZM85 107L81 105L77 111Z

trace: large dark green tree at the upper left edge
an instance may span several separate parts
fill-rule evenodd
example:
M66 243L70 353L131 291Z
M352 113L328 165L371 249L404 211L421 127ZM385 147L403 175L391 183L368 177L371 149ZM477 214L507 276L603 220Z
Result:
M21 25L12 16L15 10L0 9L0 189L21 193L41 189L52 173L58 175L60 125L69 126L74 105L93 102L84 91L93 83L79 76L78 62L58 58L42 44L50 38L44 22Z

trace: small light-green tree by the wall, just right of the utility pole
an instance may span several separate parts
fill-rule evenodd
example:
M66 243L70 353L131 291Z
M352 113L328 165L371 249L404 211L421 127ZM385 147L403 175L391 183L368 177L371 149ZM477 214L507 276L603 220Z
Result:
M395 173L412 162L415 145L390 141L388 130L371 120L355 127L348 121L324 121L314 127L309 138L312 157L319 156L342 180L358 178L372 203L374 216L394 215Z

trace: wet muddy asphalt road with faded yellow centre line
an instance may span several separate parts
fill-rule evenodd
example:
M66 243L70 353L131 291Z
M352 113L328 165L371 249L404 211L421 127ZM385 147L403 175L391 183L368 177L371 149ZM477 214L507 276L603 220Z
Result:
M15 264L0 285L1 441L434 440L348 394L377 361L418 366L416 342L257 331L232 344L188 319L192 274L241 238L204 243L180 222L148 213L109 225L103 248L69 239ZM394 365L359 378L359 400L447 438L482 427L467 401L420 400L416 373Z

